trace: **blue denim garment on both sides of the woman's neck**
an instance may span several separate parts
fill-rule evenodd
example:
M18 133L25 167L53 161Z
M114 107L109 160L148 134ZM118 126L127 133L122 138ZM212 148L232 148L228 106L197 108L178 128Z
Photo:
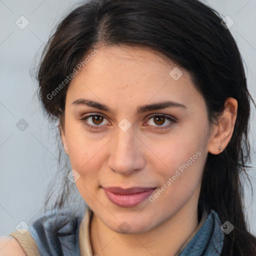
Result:
M224 234L220 220L213 210L204 210L204 222L175 253L175 256L217 256L223 247ZM29 226L29 233L43 256L78 256L79 225L82 216L70 216L65 211L47 212ZM91 255L86 255L91 256Z

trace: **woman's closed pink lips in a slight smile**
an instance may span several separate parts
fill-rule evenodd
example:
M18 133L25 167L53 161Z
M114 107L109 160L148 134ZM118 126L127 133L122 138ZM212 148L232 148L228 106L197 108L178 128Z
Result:
M102 187L102 186L101 186ZM156 187L102 187L110 202L120 207L134 207L144 201Z

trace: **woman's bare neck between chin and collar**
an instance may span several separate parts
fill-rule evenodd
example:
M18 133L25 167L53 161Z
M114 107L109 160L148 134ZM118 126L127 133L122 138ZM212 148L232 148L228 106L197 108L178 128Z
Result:
M144 233L123 234L106 226L95 214L90 225L93 255L174 255L198 225L197 203L192 196L161 225Z

